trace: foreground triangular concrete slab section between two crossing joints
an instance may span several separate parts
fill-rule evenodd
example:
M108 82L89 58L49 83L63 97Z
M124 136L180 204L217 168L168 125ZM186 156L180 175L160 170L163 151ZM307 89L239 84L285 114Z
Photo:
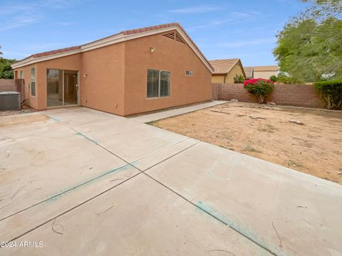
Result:
M268 255L152 179L140 174L17 241L1 255Z

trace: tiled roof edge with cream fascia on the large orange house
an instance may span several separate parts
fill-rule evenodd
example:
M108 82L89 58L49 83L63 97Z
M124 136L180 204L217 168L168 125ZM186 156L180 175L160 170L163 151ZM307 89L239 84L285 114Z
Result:
M53 58L60 58L66 55L81 53L87 50L93 50L96 48L101 48L104 46L110 46L114 43L121 43L124 41L132 40L135 38L140 38L143 36L151 36L153 34L157 33L163 33L167 31L176 30L183 39L187 42L187 44L192 48L192 50L196 53L196 55L199 57L200 60L202 60L202 63L211 71L214 71L214 68L212 68L212 65L210 65L209 60L205 58L204 54L201 50L196 46L195 42L192 41L190 36L187 34L187 32L180 26L180 23L167 23L157 26L150 26L145 28L138 28L138 29L130 29L127 31L121 31L120 33L116 33L113 36L108 36L105 38L101 38L99 40L83 44L82 46L73 46L68 48L62 48L58 50L49 50L43 53L36 53L33 55L28 56L27 58L24 58L23 60L19 60L18 62L14 63L12 65L12 68L20 68L24 65L30 65L33 63L41 62L44 60L51 60Z

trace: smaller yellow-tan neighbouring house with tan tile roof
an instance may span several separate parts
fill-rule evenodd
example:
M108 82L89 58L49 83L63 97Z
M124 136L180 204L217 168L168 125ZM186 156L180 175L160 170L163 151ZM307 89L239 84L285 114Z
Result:
M212 67L214 68L212 82L234 83L236 75L243 75L244 78L246 78L242 62L239 58L210 60L210 64L212 64Z

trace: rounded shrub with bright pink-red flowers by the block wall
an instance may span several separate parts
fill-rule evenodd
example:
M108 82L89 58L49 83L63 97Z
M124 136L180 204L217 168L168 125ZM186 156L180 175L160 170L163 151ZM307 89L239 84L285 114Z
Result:
M259 103L263 103L265 97L271 94L274 89L274 82L264 78L249 79L244 81L244 88L257 97Z

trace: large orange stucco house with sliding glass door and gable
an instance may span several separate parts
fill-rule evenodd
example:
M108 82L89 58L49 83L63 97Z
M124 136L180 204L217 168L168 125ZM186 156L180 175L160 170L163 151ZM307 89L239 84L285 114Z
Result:
M36 53L12 68L36 110L81 105L123 116L211 100L214 71L178 23Z

